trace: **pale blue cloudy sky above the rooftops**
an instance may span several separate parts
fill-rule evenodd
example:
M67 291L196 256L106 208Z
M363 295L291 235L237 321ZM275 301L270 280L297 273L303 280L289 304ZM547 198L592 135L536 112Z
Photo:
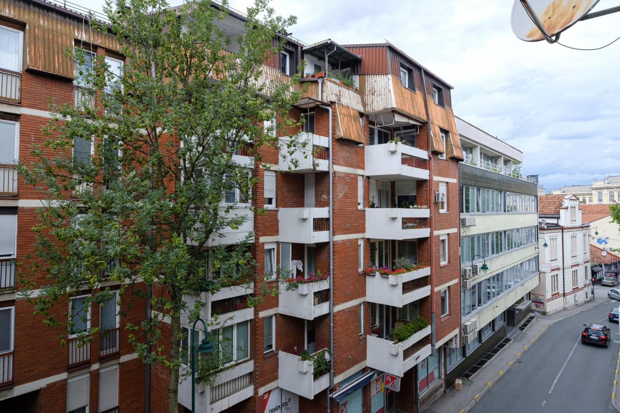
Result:
M99 11L104 0L73 0ZM244 11L252 0L230 0ZM172 5L182 0L172 0ZM595 10L618 5L601 0ZM527 43L512 1L272 0L304 43L394 43L454 86L454 113L523 151L546 190L620 174L620 40L597 51ZM620 13L578 22L560 42L594 48L620 36Z

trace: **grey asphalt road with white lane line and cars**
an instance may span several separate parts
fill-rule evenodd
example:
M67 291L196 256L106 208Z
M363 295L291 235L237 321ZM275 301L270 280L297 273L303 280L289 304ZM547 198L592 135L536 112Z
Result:
M552 324L471 412L617 413L611 406L611 388L620 334L618 324L607 317L619 303L606 295L595 296L604 304ZM540 322L544 320L536 325ZM600 322L611 329L614 341L608 349L581 344L586 322Z

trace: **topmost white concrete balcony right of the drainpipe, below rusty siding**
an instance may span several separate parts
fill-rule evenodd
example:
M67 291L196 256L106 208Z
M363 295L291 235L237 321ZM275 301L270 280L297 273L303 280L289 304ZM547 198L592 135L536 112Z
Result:
M366 176L381 180L428 179L428 154L401 142L365 148Z

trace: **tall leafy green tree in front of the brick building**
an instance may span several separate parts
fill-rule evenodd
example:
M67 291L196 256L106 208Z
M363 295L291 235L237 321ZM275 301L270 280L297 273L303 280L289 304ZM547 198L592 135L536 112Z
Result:
M244 32L231 37L218 25L227 16L225 4L190 0L170 11L164 0L117 0L105 12L110 25L93 30L118 39L122 69L103 56L89 68L83 51L67 51L78 63L84 95L96 96L103 110L89 99L78 107L52 104L53 118L42 128L45 143L32 148L34 162L19 167L47 200L33 228L37 259L22 266L22 295L39 287L35 313L44 314L49 326L69 329L73 323L57 304L84 290L92 291L86 308L105 303L112 292L101 286L104 280L122 283L120 301L129 302L130 294L146 297L159 316L122 327L130 329L145 363L170 369L169 410L176 412L180 317L186 312L195 319L202 304L187 308L184 295L216 291L255 274L247 240L211 252L205 246L224 229L239 228L247 216L238 204L255 196L256 179L233 155L260 161L263 149L278 150L275 131L299 122L287 117L301 95L292 91L299 87L290 87L298 76L289 84L260 81L262 63L282 47L272 39L296 19L278 17L268 1L255 0ZM263 128L265 121L271 127ZM89 142L94 156L84 153ZM284 155L296 145L291 140ZM207 254L216 269L210 277ZM35 276L42 270L47 280L40 286ZM137 288L141 283L146 291ZM250 304L275 291L254 291ZM162 338L164 317L172 326L170 340ZM81 341L97 330L82 332ZM212 359L207 368L221 366ZM200 376L208 380L209 371Z

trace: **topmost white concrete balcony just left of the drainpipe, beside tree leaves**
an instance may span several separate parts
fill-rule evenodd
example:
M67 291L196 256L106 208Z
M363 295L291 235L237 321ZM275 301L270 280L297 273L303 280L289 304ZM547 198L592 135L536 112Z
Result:
M290 136L280 138L280 169L282 171L311 174L313 172L325 172L329 167L329 138L315 135L314 133L301 132L298 142L291 148ZM314 154L312 154L314 149ZM297 166L293 165L292 159L296 159Z

